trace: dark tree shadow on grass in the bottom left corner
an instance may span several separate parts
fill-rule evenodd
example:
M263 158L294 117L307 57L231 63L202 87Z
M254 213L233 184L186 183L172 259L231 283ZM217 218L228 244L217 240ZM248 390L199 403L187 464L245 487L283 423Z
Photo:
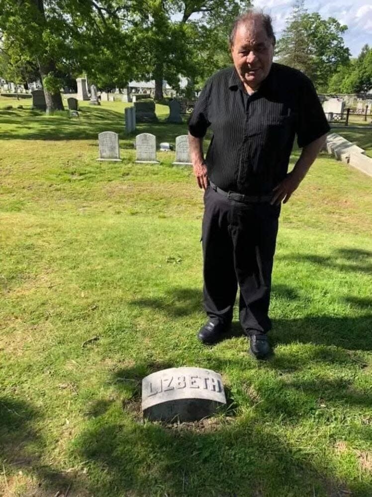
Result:
M42 461L43 436L35 427L41 414L23 400L0 397L0 462L2 472L11 476L22 470L36 476L39 486L33 496L62 493L72 484L69 475ZM44 493L44 489L46 494ZM9 494L12 495L12 494Z

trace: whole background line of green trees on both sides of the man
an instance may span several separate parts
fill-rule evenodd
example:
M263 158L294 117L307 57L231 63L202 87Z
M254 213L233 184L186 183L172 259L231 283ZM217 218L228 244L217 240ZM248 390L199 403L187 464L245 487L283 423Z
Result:
M60 88L87 75L98 88L167 80L186 93L231 64L229 29L250 0L0 0L0 76L24 83L40 78L47 111L63 109ZM347 26L296 0L278 41L279 62L310 76L318 92L349 93L372 86L372 50L357 59L342 38Z

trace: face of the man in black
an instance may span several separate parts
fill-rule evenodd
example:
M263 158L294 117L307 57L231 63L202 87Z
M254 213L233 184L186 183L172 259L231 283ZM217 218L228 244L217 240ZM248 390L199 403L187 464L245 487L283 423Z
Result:
M273 41L260 20L238 26L231 55L244 85L257 90L270 72L274 55Z

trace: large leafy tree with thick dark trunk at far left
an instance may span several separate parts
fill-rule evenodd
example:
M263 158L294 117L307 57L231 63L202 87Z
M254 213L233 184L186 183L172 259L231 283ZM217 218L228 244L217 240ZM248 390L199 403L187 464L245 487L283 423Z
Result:
M120 36L116 10L125 13L131 2L120 0L0 0L2 50L13 68L31 63L42 80L47 112L63 109L61 75L79 75L90 66L103 41L113 53ZM112 16L111 16L112 13ZM112 21L110 20L112 17ZM93 52L88 52L94 48ZM121 45L121 49L125 46ZM129 61L130 55L128 55ZM100 59L101 60L101 59ZM99 67L99 66L98 66ZM111 66L112 67L112 66ZM101 67L102 74L108 67Z

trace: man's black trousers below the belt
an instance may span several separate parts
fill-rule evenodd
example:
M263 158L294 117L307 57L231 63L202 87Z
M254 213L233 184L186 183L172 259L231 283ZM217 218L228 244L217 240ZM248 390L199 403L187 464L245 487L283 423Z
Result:
M204 308L229 324L238 285L239 320L247 335L271 329L271 274L280 206L228 199L210 186L202 222Z

